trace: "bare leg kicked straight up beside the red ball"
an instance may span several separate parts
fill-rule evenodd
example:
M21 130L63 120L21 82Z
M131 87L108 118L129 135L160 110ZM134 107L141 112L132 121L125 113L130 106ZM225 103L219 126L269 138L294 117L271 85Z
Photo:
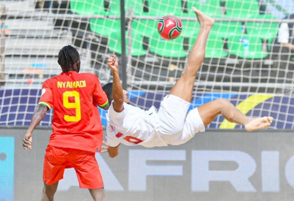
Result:
M170 94L178 96L187 102L191 102L196 73L204 60L207 37L214 24L214 19L206 16L195 7L192 9L200 23L200 31L188 56L188 62L183 69L182 76L178 79L170 92Z

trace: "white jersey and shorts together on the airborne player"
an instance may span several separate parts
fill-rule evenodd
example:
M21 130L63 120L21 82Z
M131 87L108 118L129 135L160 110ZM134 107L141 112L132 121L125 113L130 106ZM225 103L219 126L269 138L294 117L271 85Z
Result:
M144 147L179 145L205 131L198 109L188 112L190 103L174 95L164 97L158 112L154 106L143 110L123 103L123 107L123 111L116 112L111 103L106 114L107 143L111 147L120 143Z

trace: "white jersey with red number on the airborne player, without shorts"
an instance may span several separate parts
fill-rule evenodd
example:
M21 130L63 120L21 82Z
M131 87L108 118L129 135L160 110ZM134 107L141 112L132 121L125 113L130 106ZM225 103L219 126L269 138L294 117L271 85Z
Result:
M108 108L107 143L116 147L119 143L126 145L140 144L144 147L162 147L167 143L158 135L159 119L157 110L149 110L123 103L123 111L116 112L113 104Z

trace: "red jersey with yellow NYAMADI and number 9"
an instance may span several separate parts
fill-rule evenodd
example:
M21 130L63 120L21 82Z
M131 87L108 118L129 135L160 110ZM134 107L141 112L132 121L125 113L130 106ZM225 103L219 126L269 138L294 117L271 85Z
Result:
M100 152L103 131L97 104L107 103L94 74L70 71L45 80L39 104L54 108L49 144Z

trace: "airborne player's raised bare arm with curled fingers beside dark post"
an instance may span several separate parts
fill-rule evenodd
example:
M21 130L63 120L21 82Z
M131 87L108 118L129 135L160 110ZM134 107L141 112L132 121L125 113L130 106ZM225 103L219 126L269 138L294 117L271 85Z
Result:
M112 99L113 99L113 109L116 111L123 110L123 87L121 85L121 80L119 79L118 73L118 62L114 59L116 55L108 57L107 65L112 71L113 84L112 84Z

